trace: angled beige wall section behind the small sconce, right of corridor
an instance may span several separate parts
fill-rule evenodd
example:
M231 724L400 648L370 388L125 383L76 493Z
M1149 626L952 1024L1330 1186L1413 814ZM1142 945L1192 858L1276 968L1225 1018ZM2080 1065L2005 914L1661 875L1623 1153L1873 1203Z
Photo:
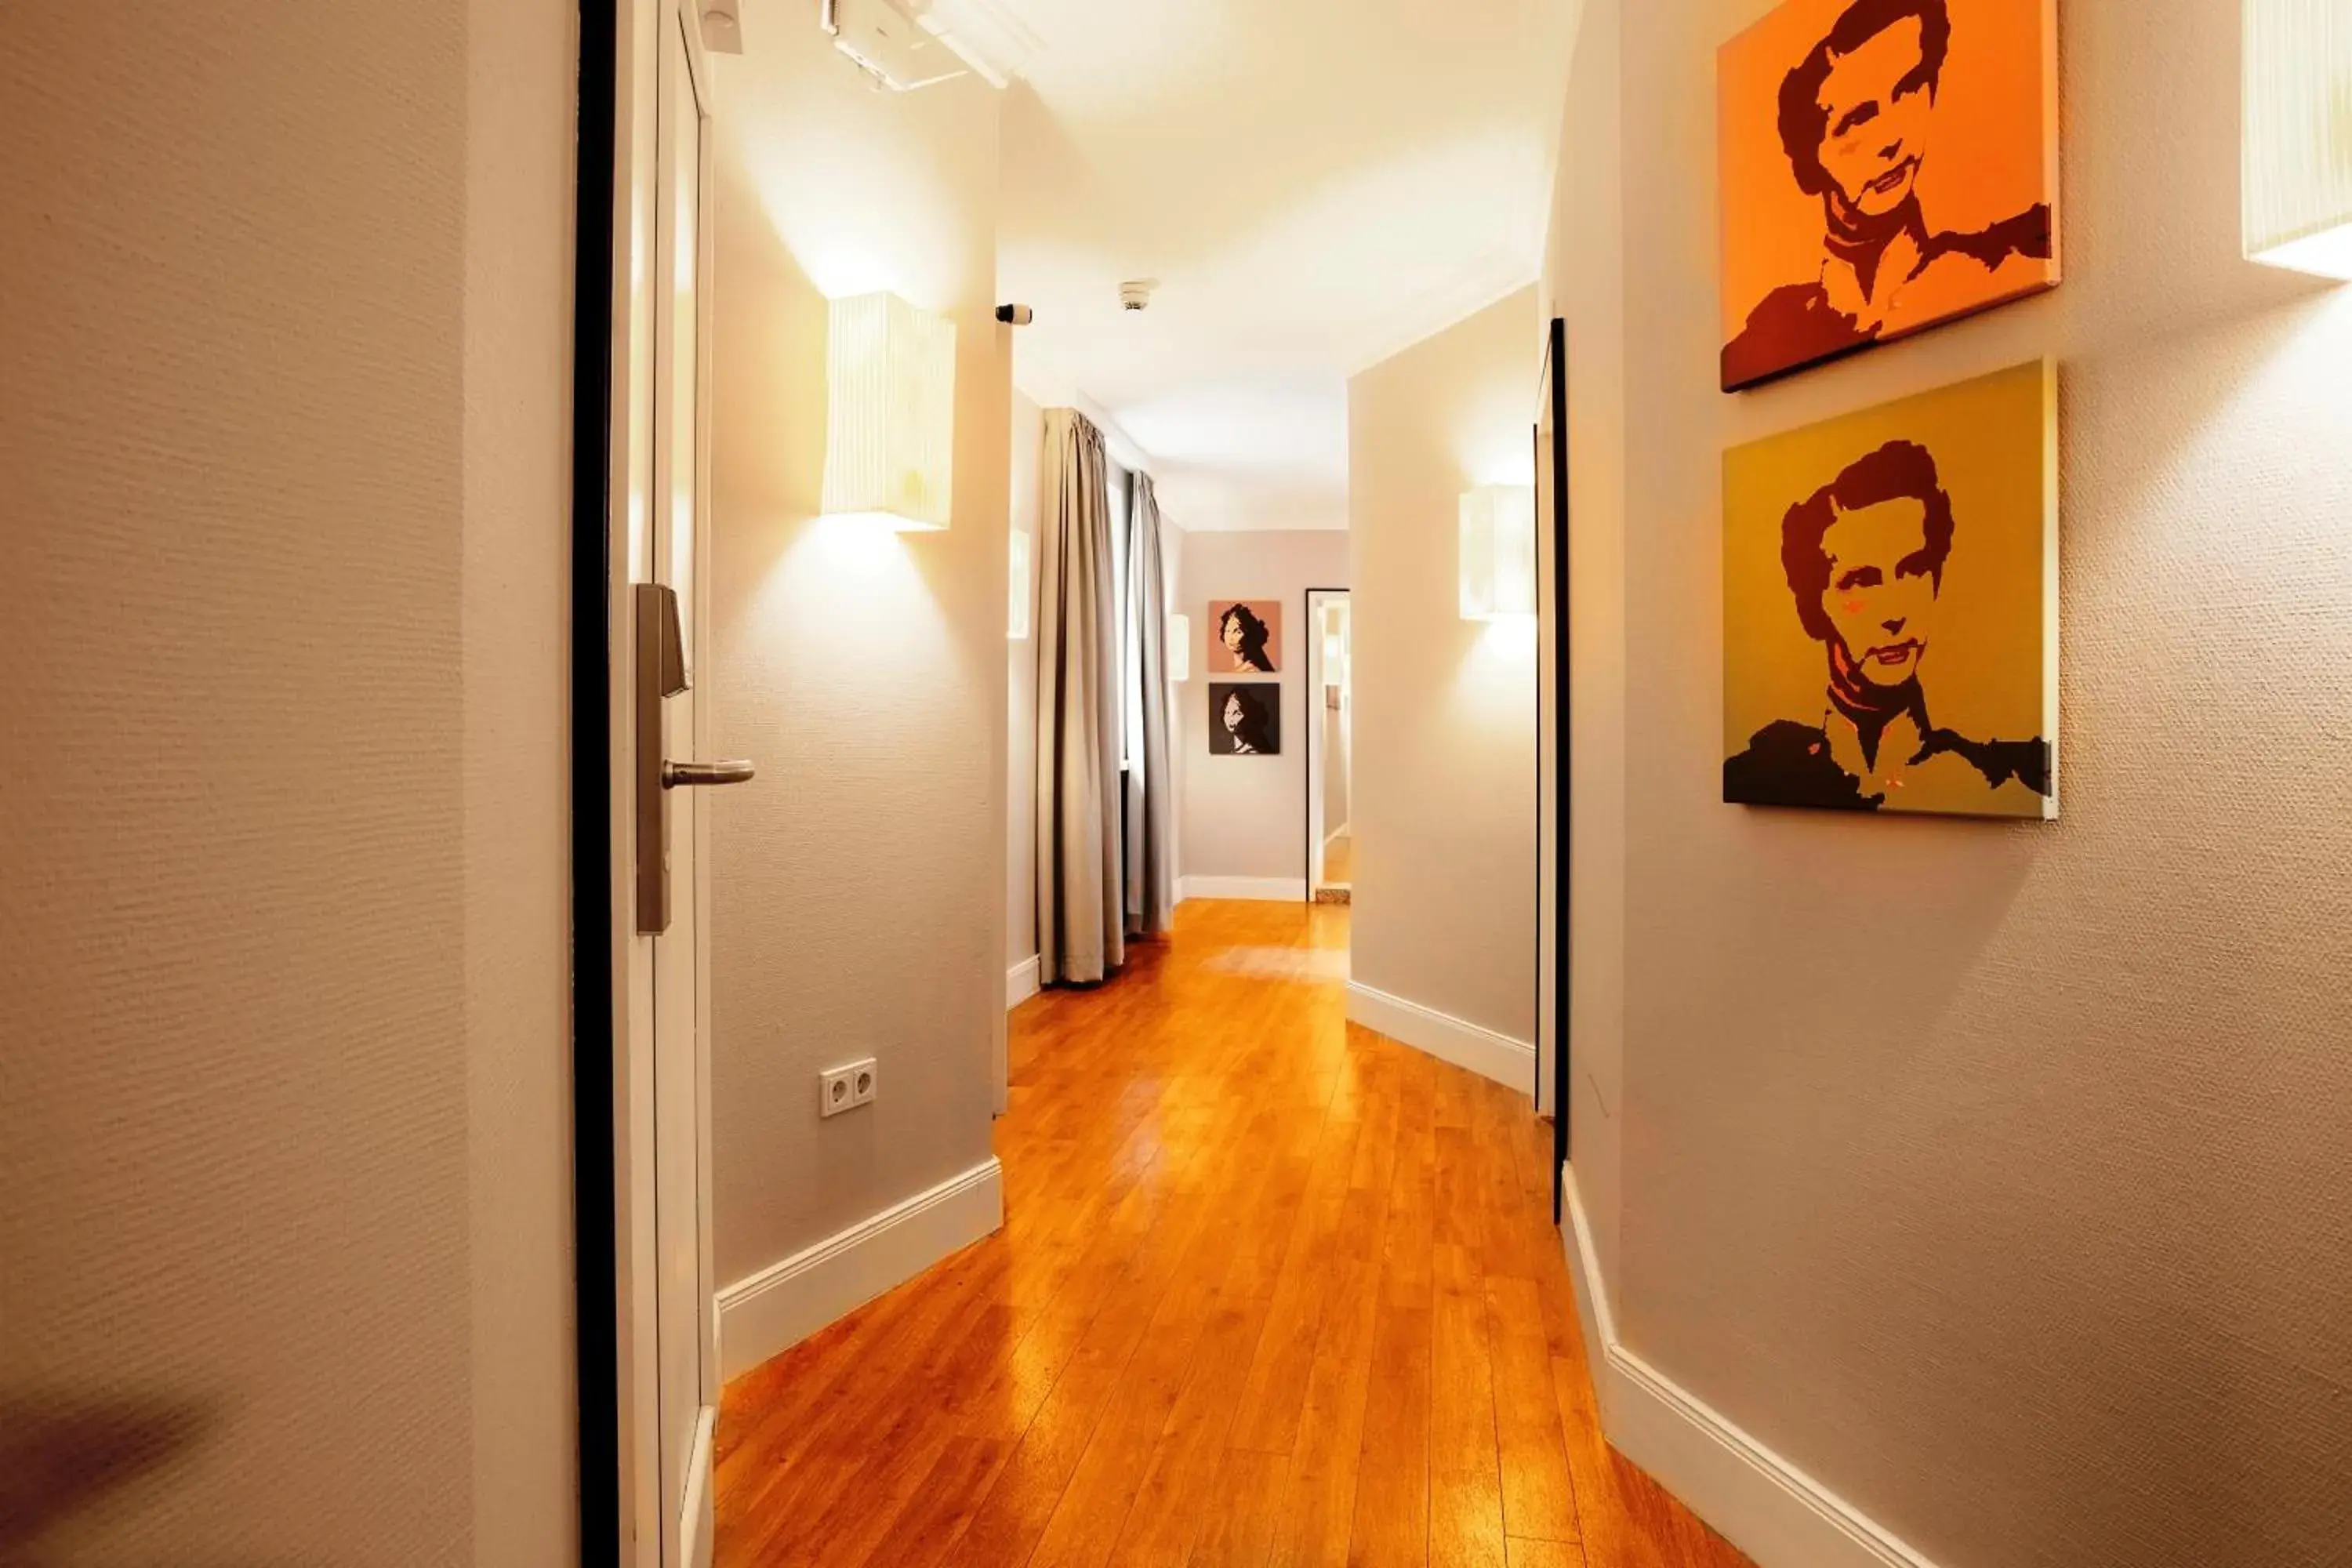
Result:
M1534 477L1541 355L1519 289L1348 383L1355 980L1512 1041L1536 1037L1536 628L1461 618L1458 498Z

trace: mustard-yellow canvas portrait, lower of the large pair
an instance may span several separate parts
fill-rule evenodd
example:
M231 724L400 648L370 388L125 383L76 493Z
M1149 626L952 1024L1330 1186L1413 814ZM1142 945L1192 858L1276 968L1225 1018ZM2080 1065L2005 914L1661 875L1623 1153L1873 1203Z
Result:
M1724 454L1724 799L2058 816L2058 374Z

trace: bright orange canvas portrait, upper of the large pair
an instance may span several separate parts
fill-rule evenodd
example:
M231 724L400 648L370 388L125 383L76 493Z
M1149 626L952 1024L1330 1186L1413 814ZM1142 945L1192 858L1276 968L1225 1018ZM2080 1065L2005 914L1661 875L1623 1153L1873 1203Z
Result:
M1717 56L1722 381L2058 282L2058 0L1788 0Z

